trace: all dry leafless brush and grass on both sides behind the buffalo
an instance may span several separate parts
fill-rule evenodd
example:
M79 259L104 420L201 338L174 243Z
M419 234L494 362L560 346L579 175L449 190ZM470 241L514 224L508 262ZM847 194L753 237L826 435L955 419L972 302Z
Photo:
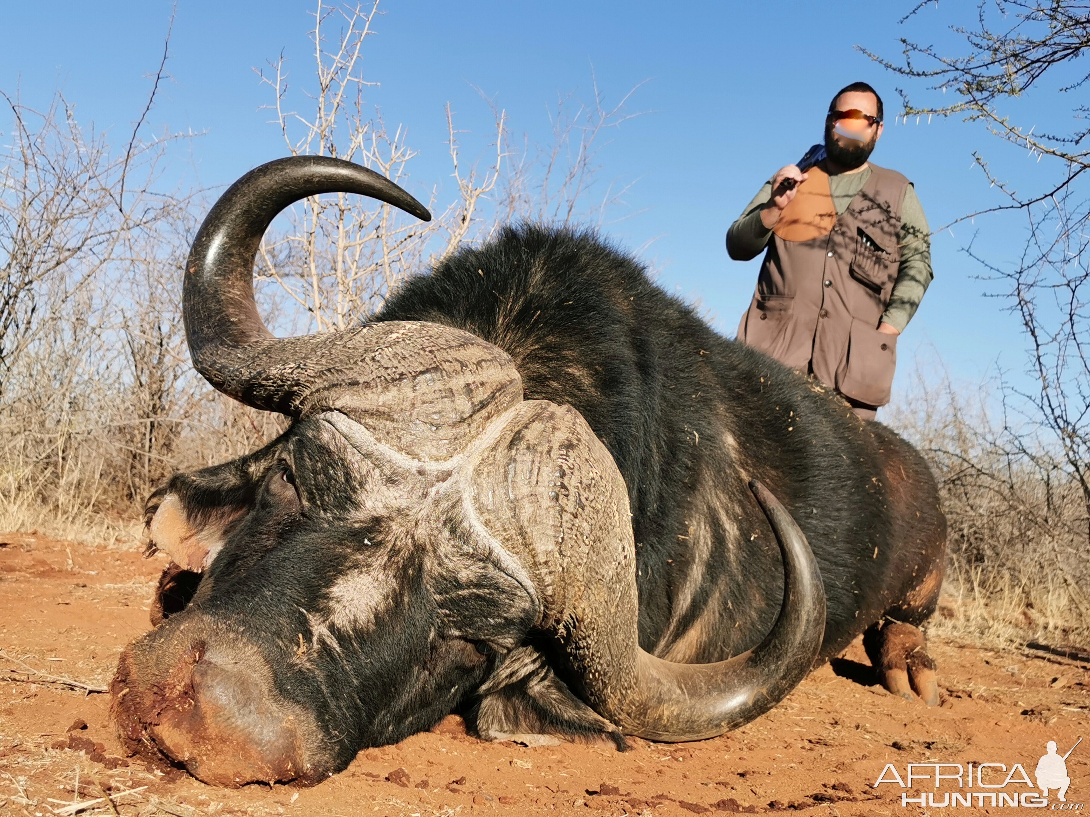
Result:
M319 5L315 42L330 16L341 34L317 48L308 119L284 112L290 92L271 65L286 145L397 179L413 151L403 131L364 115L361 97L375 7ZM61 97L44 111L8 102L16 126L0 153L0 529L132 545L145 497L170 473L249 452L284 422L216 394L191 368L181 270L208 202L159 188L171 139L121 149L82 131ZM425 228L343 196L302 203L259 256L270 325L353 325L404 276L510 219L601 222L616 193L597 207L580 202L594 184L594 139L627 118L621 106L604 106L596 87L578 110L561 99L555 143L536 157L513 150L506 114L491 114L479 170L460 157L448 110L457 190L447 203L433 194L437 217ZM1032 427L994 422L986 399L967 400L942 378L918 378L911 393L884 418L920 448L942 489L950 556L935 626L976 642L1090 643L1090 521L1064 452Z

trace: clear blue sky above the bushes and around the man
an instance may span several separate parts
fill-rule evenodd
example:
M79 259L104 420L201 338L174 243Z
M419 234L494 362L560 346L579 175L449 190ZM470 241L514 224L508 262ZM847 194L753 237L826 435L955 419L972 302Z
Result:
M1002 174L1026 182L1032 159L1004 149L960 122L894 125L894 88L904 85L860 54L864 45L895 57L897 38L949 42L944 5L908 25L915 2L812 3L435 2L389 0L370 38L367 92L388 123L409 129L420 151L413 192L449 184L444 105L457 112L470 154L483 151L491 114L475 88L505 108L516 132L549 141L547 111L558 93L589 98L592 71L607 101L646 81L631 110L647 111L608 135L600 155L604 181L634 182L628 216L606 233L646 247L659 283L692 302L732 336L756 276L756 261L730 261L724 233L760 185L820 138L828 98L865 80L883 94L885 135L874 154L917 185L932 229L995 204L971 154L982 149ZM128 139L158 66L171 5L161 0L8 3L0 14L0 88L45 106L55 89L75 103L81 122ZM167 63L169 81L145 135L192 129L204 135L173 160L202 184L232 182L283 155L261 106L270 101L255 68L281 51L292 82L310 82L308 2L179 0ZM908 86L912 88L915 86ZM1039 105L1044 106L1042 96ZM1022 103L1020 113L1046 115ZM1065 107L1066 109L1066 107ZM1028 121L1028 120L1027 120ZM0 129L7 130L0 115ZM959 380L986 377L996 362L1022 369L1024 341L1003 302L989 298L982 270L959 252L1002 260L1018 248L1020 222L978 220L936 235L935 281L900 345L898 385L918 352L937 353Z

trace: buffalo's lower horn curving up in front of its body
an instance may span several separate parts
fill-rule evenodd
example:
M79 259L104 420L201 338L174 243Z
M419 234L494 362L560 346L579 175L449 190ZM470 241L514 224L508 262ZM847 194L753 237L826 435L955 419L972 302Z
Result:
M676 663L640 647L635 544L628 491L605 446L574 408L511 408L472 456L473 516L528 565L569 683L626 734L693 741L771 709L813 666L825 592L802 531L759 483L751 490L779 542L779 617L751 650L716 663ZM499 425L500 422L497 422Z

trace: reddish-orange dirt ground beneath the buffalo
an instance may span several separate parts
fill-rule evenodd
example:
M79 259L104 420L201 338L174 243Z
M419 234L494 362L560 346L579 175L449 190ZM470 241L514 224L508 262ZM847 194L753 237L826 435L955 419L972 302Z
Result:
M117 814L180 817L918 814L917 805L903 807L896 783L873 786L887 763L903 778L907 764L927 760L1002 763L1008 769L1020 763L1032 776L1046 741L1064 753L1079 735L1090 737L1088 663L932 639L943 704L929 709L877 686L857 643L772 712L711 741L633 740L623 754L604 745L526 748L484 743L451 717L431 733L362 752L346 771L313 789L216 789L123 760L107 695L41 683L40 675L33 683L25 672L31 667L107 685L121 649L149 627L148 603L162 568L161 558L144 560L133 550L0 534L0 814L74 814L65 806L101 797L101 788L138 789L117 798ZM69 731L83 722L85 728ZM1075 749L1067 768L1067 800L1090 801L1090 741ZM990 772L998 780L985 782L1002 782L1003 773ZM917 780L909 796L929 785ZM948 791L958 791L956 781L944 781L940 804ZM997 791L1028 789L1012 783ZM1058 805L1055 792L1051 804ZM961 809L1006 810L978 808L977 801ZM78 814L114 812L99 800Z

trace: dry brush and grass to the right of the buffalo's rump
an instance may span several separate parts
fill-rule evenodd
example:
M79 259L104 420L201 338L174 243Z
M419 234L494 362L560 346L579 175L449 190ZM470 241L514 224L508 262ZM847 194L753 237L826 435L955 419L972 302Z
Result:
M932 626L978 644L1090 643L1087 508L1058 447L1007 416L1002 394L917 376L886 420L938 480L949 525L941 615Z

